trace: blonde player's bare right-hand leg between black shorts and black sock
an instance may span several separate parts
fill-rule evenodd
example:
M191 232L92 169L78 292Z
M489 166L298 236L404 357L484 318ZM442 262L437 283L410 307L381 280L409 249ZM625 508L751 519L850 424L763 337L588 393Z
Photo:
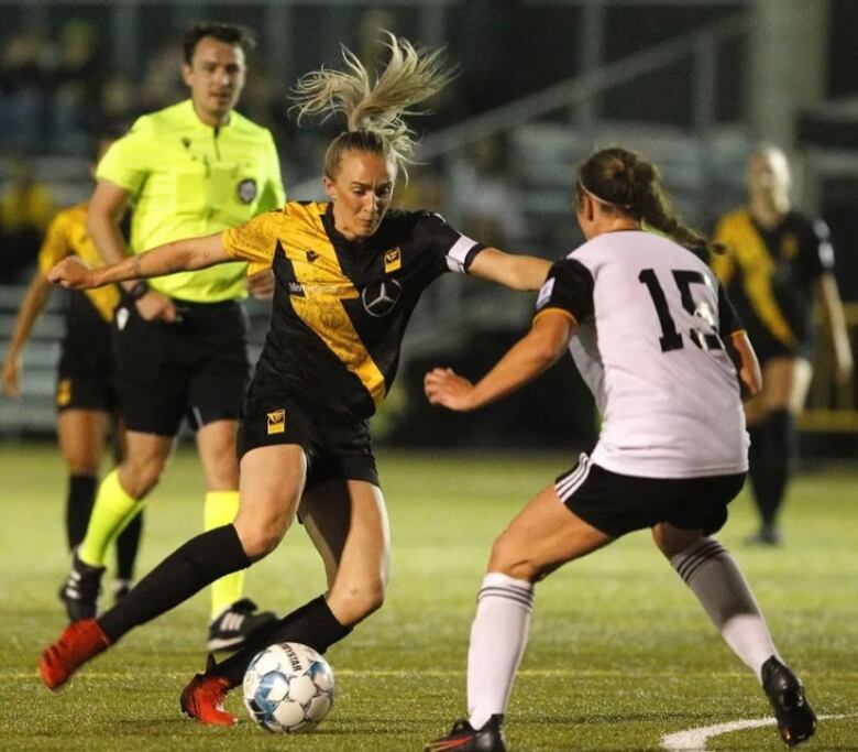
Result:
M391 528L382 490L364 480L314 486L301 520L328 576L328 606L342 624L378 609L387 590Z

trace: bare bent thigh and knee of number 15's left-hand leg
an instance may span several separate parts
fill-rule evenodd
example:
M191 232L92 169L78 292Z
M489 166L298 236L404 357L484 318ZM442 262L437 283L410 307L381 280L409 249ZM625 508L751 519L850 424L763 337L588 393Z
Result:
M614 538L584 522L558 499L553 483L542 489L509 523L492 547L488 571L535 582Z

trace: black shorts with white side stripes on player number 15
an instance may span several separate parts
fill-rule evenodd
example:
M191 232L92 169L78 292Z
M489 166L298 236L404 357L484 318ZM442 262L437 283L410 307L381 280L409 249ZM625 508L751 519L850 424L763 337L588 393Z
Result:
M613 537L669 522L681 530L719 531L727 504L745 484L745 475L706 478L623 476L581 455L579 465L559 476L554 490L584 522Z

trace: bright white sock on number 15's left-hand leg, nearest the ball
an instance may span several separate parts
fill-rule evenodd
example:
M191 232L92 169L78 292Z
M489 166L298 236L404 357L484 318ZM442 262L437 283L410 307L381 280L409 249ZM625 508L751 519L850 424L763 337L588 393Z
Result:
M483 578L468 651L468 711L474 729L506 712L532 608L530 582L498 573Z

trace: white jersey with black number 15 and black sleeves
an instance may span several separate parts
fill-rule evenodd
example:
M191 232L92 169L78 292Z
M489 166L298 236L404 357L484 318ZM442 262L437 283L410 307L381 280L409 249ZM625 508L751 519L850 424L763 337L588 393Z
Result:
M740 327L694 253L644 231L603 233L556 263L537 316L572 314L570 352L602 413L592 459L613 472L698 478L748 469L736 369Z

